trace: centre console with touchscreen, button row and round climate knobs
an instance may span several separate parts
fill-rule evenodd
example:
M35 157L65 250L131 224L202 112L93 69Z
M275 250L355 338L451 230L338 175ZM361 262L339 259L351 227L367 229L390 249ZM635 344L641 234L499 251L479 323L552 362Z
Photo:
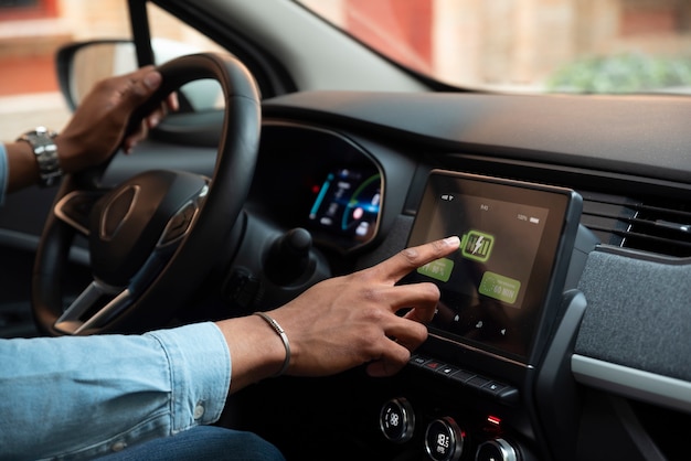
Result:
M435 461L545 458L535 389L573 301L564 293L595 244L581 210L567 189L429 174L407 246L449 235L461 244L402 280L435 283L440 301L428 340L382 403L390 443Z

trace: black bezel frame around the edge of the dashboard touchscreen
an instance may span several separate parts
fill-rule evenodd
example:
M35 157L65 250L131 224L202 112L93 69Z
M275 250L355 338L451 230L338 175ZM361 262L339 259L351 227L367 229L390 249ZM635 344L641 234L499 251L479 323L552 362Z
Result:
M463 233L464 229L429 228L440 195L448 193L549 210L523 300L523 305L531 307L532 311L528 312L521 324L511 325L520 329L520 332L525 335L520 344L513 344L509 349L455 334L434 323L428 326L430 335L442 337L445 342L450 341L481 353L529 365L534 362L540 350L539 346L549 334L549 325L556 317L557 308L552 307L559 305L561 301L568 260L577 232L582 199L573 190L564 187L434 170L428 175L407 246L447 237L448 235L445 234ZM417 272L404 279L404 282L411 281L435 282L439 286L444 299L445 286L443 282L419 276Z

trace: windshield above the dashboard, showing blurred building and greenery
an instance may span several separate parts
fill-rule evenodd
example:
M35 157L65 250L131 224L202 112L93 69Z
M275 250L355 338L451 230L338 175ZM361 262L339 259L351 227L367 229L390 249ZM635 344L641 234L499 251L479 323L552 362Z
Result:
M458 87L691 93L691 0L298 1Z

